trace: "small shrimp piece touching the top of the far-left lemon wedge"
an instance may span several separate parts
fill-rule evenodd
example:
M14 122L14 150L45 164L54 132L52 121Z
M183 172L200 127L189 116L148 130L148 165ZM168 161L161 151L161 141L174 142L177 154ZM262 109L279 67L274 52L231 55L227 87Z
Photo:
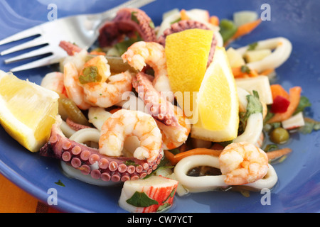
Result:
M43 77L41 87L57 92L58 94L67 95L65 91L65 84L63 83L62 72L50 72Z

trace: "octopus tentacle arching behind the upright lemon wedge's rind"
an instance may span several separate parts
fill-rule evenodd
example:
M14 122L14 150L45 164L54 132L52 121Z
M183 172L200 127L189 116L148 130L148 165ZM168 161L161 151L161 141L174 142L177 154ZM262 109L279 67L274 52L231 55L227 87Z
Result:
M176 23L173 23L170 28L167 28L164 31L164 34L158 38L157 42L160 43L161 45L165 46L167 35L170 35L172 33L178 33L181 31L185 31L187 29L192 29L192 28L200 28L200 29L210 30L210 28L208 28L208 26L206 26L204 23L201 23L199 21L182 20L182 21L178 21ZM216 45L217 45L217 40L215 39L215 35L213 34L213 40L211 43L207 66L209 66L213 60L213 55L215 54L215 46Z

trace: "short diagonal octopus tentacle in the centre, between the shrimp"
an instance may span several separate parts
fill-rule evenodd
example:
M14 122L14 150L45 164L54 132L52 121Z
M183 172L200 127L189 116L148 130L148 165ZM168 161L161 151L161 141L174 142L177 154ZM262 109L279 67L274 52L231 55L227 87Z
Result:
M166 101L152 85L150 76L144 72L139 72L134 77L132 86L146 104L149 114L167 126L176 126L178 118L174 114L174 105Z

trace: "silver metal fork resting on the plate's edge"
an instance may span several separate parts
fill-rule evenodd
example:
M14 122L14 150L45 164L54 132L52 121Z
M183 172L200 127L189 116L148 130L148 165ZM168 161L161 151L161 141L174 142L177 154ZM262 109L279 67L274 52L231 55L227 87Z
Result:
M8 38L0 40L0 45L3 45L5 43L11 43L23 38L30 38L36 35L40 35L26 43L16 45L13 48L9 48L7 50L3 50L2 52L0 52L0 55L7 55L19 50L26 50L28 48L34 48L41 45L41 48L23 53L16 57L11 57L7 60L4 60L4 62L6 64L9 64L11 62L26 60L31 57L49 55L33 62L29 62L25 65L14 67L10 71L16 72L46 65L52 65L59 62L62 57L66 56L65 51L62 50L62 48L58 47L61 40L76 43L78 46L80 46L80 48L90 48L90 46L95 43L95 40L97 40L100 26L102 26L105 21L114 18L119 9L125 7L140 8L142 6L145 6L146 4L151 3L152 1L156 0L130 0L103 13L69 16L60 18L56 21L48 21L46 23L42 23L39 26L29 28L25 31L21 31L19 33L16 33L15 35L11 35Z

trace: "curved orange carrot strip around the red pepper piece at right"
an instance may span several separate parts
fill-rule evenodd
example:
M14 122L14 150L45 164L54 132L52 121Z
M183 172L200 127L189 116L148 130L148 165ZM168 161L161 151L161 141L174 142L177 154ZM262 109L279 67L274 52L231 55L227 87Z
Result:
M289 90L290 104L287 108L287 111L285 111L284 113L274 114L274 116L272 116L272 118L269 121L267 121L267 123L281 122L290 118L294 111L297 109L297 106L299 105L301 92L301 87L292 87Z

